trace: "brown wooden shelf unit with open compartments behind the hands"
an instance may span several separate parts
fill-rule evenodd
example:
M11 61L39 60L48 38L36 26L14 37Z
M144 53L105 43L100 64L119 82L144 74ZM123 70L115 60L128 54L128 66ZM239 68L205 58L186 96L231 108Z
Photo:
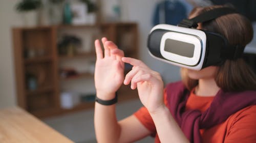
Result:
M60 77L59 64L77 59L96 59L94 45L88 51L73 55L58 54L59 33L62 31L100 32L93 38L107 37L124 50L125 56L138 58L137 24L102 23L96 25L52 25L13 28L13 51L16 75L17 103L38 118L89 109L94 102L81 102L71 109L60 105L60 85L67 80L93 78L92 73L80 73L75 77ZM101 37L100 37L101 36ZM93 43L93 42L92 42ZM122 86L118 91L119 102L137 98L137 91Z

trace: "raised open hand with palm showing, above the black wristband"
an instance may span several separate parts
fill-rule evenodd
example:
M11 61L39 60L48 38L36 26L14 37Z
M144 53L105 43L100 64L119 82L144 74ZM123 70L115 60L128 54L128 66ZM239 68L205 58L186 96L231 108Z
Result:
M124 80L124 63L121 58L124 56L122 50L106 38L100 41L95 40L96 64L95 64L95 88L97 97L102 100L110 100L115 97L115 92L120 88Z

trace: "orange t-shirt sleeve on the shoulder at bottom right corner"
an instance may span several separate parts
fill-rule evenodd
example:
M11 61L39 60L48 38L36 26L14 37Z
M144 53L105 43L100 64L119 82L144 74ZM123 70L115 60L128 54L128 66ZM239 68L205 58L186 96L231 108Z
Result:
M256 140L256 105L247 107L231 123L225 143L255 142Z

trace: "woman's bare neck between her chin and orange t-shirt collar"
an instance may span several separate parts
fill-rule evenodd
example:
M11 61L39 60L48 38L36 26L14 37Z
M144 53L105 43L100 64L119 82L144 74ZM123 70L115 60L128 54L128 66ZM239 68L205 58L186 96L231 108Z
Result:
M215 96L220 88L215 82L214 78L199 79L198 87L196 87L195 94L198 96Z

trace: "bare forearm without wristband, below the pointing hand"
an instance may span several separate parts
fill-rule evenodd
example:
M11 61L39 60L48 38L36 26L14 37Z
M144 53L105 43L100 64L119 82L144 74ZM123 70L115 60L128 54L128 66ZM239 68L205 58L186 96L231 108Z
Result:
M162 143L189 142L166 106L157 112L150 113L150 115L155 123L157 134Z

